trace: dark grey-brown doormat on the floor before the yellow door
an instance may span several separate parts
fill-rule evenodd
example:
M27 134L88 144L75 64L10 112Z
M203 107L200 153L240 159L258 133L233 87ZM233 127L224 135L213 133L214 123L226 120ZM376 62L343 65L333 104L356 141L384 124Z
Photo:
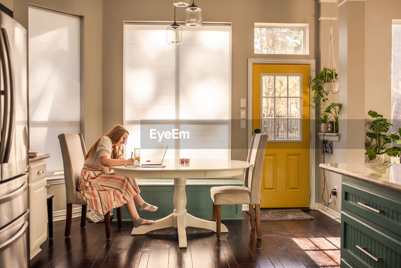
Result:
M255 210L253 210L255 213ZM249 214L249 211L247 211ZM314 218L300 209L261 209L260 221L313 220Z

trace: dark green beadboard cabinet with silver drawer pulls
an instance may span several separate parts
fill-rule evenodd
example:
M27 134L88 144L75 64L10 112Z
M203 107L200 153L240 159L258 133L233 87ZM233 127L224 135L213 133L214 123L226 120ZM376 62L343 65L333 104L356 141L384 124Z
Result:
M401 193L343 176L341 267L401 267Z

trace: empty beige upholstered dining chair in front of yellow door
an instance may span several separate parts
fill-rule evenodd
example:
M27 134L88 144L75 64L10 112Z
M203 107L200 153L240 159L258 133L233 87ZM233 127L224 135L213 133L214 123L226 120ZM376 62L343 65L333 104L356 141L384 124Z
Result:
M247 162L251 162L252 166L245 171L243 186L216 186L210 189L217 238L220 238L221 205L237 204L249 204L252 228L255 228L255 216L253 214L253 205L255 205L256 234L257 237L262 237L260 227L260 190L266 143L266 134L253 134L247 157Z

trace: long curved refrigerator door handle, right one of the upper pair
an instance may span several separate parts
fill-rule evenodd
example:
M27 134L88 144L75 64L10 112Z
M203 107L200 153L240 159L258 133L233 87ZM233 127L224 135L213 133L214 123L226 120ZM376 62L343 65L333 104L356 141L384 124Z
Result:
M6 45L7 61L8 61L8 73L10 79L10 120L8 121L8 137L6 143L6 149L4 150L4 158L2 163L7 163L10 157L12 134L14 131L14 69L12 66L11 49L10 43L8 42L8 35L6 29L2 29L3 37Z

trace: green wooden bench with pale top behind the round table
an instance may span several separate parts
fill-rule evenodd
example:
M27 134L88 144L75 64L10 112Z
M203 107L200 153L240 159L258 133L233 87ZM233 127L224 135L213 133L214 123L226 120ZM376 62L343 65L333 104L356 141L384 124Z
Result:
M174 210L174 180L173 179L136 179L142 198L149 204L158 207L155 212L138 211L143 219L157 220L170 215ZM236 185L243 186L239 179L187 179L186 180L186 212L205 220L212 219L212 199L210 188L213 186ZM113 211L117 215L116 210ZM242 205L221 206L221 219L242 219ZM113 220L116 220L113 219ZM132 221L125 206L122 207L122 220Z

